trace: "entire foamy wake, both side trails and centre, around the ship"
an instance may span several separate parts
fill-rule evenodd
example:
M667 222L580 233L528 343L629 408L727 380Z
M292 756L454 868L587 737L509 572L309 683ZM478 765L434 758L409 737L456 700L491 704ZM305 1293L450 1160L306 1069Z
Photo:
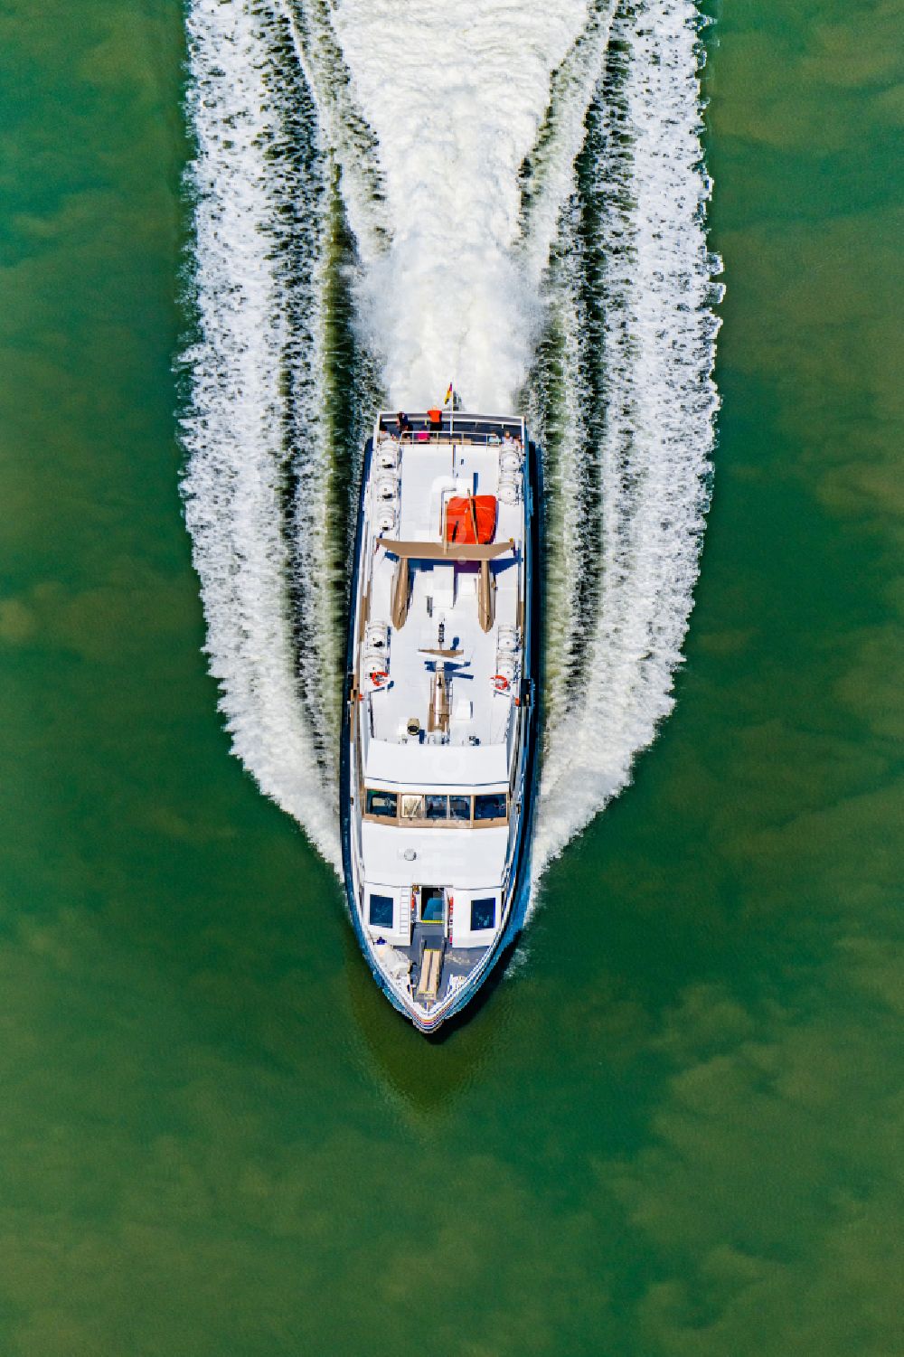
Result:
M334 864L349 506L381 391L520 394L544 444L538 874L671 710L717 407L696 22L690 0L190 3L206 649L235 752Z

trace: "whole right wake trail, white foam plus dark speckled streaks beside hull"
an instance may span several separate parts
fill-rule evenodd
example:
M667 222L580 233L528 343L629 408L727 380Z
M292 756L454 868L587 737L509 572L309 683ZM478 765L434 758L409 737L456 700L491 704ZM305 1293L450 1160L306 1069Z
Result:
M552 475L571 532L540 868L624 787L671 711L692 607L721 296L704 231L696 22L687 0L620 8L562 221L554 305L577 361L565 365L569 419Z

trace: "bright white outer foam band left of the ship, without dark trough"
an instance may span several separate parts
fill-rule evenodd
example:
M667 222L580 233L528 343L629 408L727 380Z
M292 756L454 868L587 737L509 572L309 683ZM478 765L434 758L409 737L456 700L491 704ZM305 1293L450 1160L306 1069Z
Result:
M284 136L273 81L278 49L250 4L195 0L187 26L200 335L185 354L191 389L183 489L210 672L235 753L338 864L335 799L323 792L316 729L300 699L292 642L284 520L286 358L296 350L286 292L295 282L274 246L290 191L276 153ZM311 210L322 210L316 195ZM309 227L316 252L316 216ZM309 304L303 361L316 369L323 362L316 288ZM312 441L307 455L322 497L319 512L309 503L305 514L315 560L328 479L316 475L324 451Z

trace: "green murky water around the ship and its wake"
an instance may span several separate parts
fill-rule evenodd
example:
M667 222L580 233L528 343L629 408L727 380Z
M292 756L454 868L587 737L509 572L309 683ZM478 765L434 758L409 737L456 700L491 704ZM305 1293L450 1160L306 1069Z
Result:
M904 23L718 19L677 708L429 1045L200 654L178 5L3 7L4 1357L901 1352Z

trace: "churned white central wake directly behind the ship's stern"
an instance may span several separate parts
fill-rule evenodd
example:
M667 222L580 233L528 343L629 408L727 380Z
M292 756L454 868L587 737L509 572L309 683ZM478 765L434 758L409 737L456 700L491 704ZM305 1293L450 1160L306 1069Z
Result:
M586 19L586 0L341 0L392 223L364 320L394 403L423 406L455 379L470 408L512 407L539 320L513 250L519 170Z

